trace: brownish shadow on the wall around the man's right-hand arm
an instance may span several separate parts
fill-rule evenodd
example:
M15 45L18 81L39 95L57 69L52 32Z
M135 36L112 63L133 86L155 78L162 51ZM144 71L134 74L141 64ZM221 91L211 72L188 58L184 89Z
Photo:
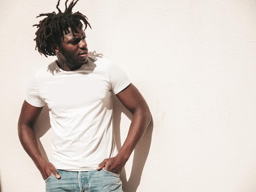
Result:
M130 120L132 119L132 114L124 107L120 100L114 96L113 98L113 114L114 114L114 125L115 125L115 140L117 143L118 149L121 148L121 138L120 138L120 122L121 122L121 113L124 113ZM129 128L129 127L127 127ZM132 161L132 170L130 178L127 181L126 171L123 168L120 177L123 182L124 192L136 192L139 187L141 180L142 171L148 157L151 138L153 132L153 119L151 119L150 124L141 138L139 143L136 145L134 150L134 156Z

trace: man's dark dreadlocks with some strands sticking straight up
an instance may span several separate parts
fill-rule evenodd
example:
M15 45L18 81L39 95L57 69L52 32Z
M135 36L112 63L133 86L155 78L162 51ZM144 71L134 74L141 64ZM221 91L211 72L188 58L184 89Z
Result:
M47 16L43 20L39 22L39 24L33 25L37 26L36 31L36 38L34 39L36 41L36 48L38 49L38 52L40 54L44 54L46 57L48 56L54 56L56 55L55 52L51 49L51 44L61 44L61 39L64 38L64 33L67 34L69 32L78 33L77 28L82 29L83 24L81 20L83 21L85 25L85 29L87 26L90 26L88 23L88 18L84 16L83 14L79 13L77 11L76 13L72 13L72 8L79 0L72 0L70 5L67 7L67 2L65 2L65 11L61 12L61 10L58 8L60 4L60 0L58 0L58 3L56 5L56 8L58 9L58 13L55 12L52 13L42 13L37 17L41 16ZM71 31L69 30L69 27L71 28Z

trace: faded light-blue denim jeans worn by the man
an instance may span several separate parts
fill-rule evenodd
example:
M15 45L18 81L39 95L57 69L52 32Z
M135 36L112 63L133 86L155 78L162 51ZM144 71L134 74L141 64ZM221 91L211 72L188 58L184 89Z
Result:
M46 192L122 192L119 174L104 169L100 171L71 172L58 170L61 179L54 174L45 179Z

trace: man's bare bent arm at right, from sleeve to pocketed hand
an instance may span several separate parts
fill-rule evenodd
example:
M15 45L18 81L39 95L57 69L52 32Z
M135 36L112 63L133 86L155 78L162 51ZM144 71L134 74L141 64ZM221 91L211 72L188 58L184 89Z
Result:
M138 89L130 84L124 91L117 94L123 105L132 113L132 122L124 145L119 150L117 156L104 159L99 164L97 170L104 169L119 174L125 163L128 161L135 146L144 135L151 120L150 110L143 96Z

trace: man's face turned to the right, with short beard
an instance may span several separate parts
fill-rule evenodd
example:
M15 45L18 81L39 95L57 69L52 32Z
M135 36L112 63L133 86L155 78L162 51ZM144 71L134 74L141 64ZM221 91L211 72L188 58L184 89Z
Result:
M88 60L85 32L82 29L77 30L78 33L74 33L74 36L72 32L64 34L64 38L59 46L58 61L70 67L82 66Z

